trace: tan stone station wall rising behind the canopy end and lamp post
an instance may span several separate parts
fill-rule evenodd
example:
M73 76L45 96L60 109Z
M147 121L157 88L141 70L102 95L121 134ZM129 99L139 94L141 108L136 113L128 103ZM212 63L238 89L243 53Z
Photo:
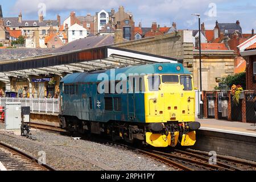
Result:
M192 64L188 70L193 73L195 87L199 85L199 51L193 51L192 32L188 30L172 32L152 38L133 40L126 43L114 44L115 47L131 49L167 56L183 60L184 67ZM202 68L207 71L208 78L204 90L214 90L218 85L216 78L234 73L234 51L202 51ZM202 79L203 80L203 79Z

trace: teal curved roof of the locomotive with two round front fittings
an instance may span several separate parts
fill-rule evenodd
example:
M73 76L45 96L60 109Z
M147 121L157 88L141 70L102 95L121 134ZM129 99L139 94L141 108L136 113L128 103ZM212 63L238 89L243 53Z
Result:
M162 71L159 71L158 67L162 66ZM180 71L177 71L177 66L180 66ZM191 72L187 68L184 68L181 63L156 63L146 64L138 66L129 66L123 68L113 68L115 76L119 73L124 73L126 76L129 74L185 74L191 75ZM98 75L105 73L110 80L115 80L115 76L110 76L110 69L99 69L93 72L71 73L65 76L61 82L64 84L72 84L74 82L98 82ZM113 73L111 73L113 75Z

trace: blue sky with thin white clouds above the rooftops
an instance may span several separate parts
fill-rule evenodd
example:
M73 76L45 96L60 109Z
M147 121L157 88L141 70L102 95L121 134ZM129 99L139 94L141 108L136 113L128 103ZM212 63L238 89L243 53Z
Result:
M135 26L142 22L142 27L151 27L152 22L160 26L171 27L176 22L177 29L198 29L198 19L191 14L200 14L201 23L205 28L213 30L216 20L218 23L236 23L240 20L243 33L256 30L256 1L250 0L1 0L3 16L18 16L27 20L38 19L38 12L44 13L44 19L57 19L61 22L71 11L77 16L90 13L95 15L102 9L109 11L124 6L125 11L133 14Z

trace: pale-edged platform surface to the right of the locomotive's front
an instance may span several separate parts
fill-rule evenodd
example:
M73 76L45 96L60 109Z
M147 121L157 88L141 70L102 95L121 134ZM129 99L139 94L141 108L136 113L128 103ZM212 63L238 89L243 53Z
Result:
M224 121L210 118L196 118L196 121L201 123L200 130L256 137L256 125L254 126L254 123Z

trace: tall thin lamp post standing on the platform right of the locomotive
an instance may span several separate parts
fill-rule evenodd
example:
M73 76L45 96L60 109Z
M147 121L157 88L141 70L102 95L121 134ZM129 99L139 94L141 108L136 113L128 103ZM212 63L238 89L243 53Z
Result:
M201 61L201 22L200 22L200 14L192 14L195 16L198 16L198 23L199 23L199 64L200 64L200 114L199 119L204 118L204 104L203 104L203 98L202 98L202 61Z

